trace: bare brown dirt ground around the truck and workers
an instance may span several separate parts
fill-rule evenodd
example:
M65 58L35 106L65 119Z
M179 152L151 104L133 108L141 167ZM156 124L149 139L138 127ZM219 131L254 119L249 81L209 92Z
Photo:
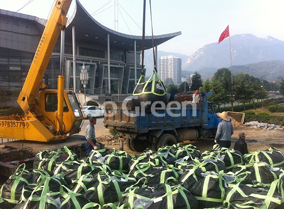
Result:
M232 136L231 148L234 148L234 143L238 139L238 133L245 132L247 134L245 140L247 142L249 152L266 150L270 146L273 146L277 150L280 150L282 153L284 153L284 128L280 127L277 130L267 131L261 128L244 126L234 119L232 120L232 123L234 127L234 134ZM107 130L103 132L104 134L100 135L97 140L105 144L105 147L107 148L116 148L117 150L119 150L119 139L114 139L112 135L108 134ZM123 149L125 151L127 151L131 155L140 154L129 150L126 146L125 141L123 142ZM189 143L199 148L201 152L212 150L213 145L215 144L213 139L200 139L199 141L192 142L185 141L181 144L186 145Z

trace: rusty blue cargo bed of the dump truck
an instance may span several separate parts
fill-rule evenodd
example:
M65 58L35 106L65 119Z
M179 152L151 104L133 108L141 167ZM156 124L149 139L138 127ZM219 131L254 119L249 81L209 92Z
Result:
M202 126L207 123L207 117L203 118L203 109L205 108L203 103L196 104L196 116L192 116L192 106L189 105L185 108L184 116L173 117L166 113L166 110L157 111L164 116L155 116L153 113L145 113L144 116L135 116L135 111L129 110L131 105L127 105L128 109L122 108L122 103L116 103L117 109L114 116L104 118L104 126L108 129L116 129L118 131L125 132L140 132L146 133L149 130L173 130L177 128L189 128ZM207 108L207 106L206 106ZM112 105L106 105L106 111L114 111ZM126 111L129 112L127 116ZM181 109L171 110L174 114L181 114Z

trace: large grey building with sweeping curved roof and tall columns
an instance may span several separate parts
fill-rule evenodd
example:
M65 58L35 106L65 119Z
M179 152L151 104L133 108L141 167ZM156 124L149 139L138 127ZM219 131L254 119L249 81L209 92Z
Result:
M24 84L45 20L0 9L0 85L8 94ZM154 36L154 47L180 35ZM142 36L119 33L98 23L76 0L65 31L65 88L75 91L83 85L83 64L89 73L87 94L131 94L141 72ZM136 46L136 47L135 47ZM145 36L144 49L151 49L152 36ZM43 82L57 87L60 37L53 50Z

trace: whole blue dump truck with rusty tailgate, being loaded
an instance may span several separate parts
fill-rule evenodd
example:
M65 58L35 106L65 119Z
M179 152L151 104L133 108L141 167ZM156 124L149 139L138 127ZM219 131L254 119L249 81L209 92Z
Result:
M118 131L127 147L136 152L200 138L214 138L220 118L207 101L211 93L202 95L202 102L174 101L157 109L132 110L131 100L110 102L105 106L104 126Z

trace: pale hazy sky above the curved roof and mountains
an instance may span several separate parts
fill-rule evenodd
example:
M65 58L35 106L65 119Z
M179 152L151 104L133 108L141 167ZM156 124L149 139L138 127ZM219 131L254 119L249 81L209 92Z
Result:
M151 35L149 0L146 35ZM21 9L26 3L27 6ZM0 8L47 19L54 0L0 0ZM73 0L69 17L74 10ZM143 0L80 0L102 25L118 32L142 35ZM191 55L206 44L217 42L229 25L230 35L251 33L284 41L284 0L152 0L154 35L181 31L182 35L158 46L158 50ZM104 6L105 5L105 6ZM101 8L104 6L103 8ZM100 9L101 8L101 9ZM135 21L133 21L133 20ZM137 24L139 26L137 26Z

